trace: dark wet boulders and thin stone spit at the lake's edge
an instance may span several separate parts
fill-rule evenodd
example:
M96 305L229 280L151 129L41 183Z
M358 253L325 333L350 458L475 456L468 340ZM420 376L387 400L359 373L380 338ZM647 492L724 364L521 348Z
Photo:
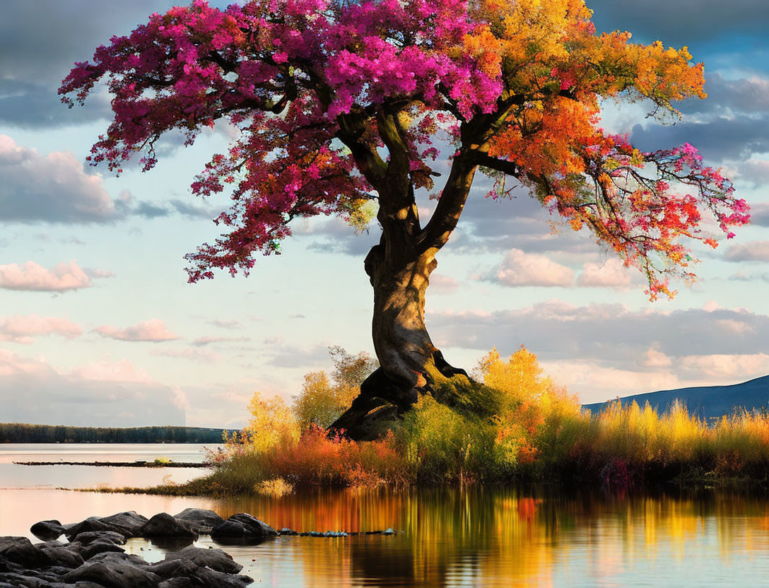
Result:
M239 573L243 566L223 550L191 545L199 535L210 535L221 544L256 545L281 535L394 534L391 529L365 533L275 530L248 513L224 520L212 510L197 508L174 516L158 513L150 519L129 510L66 525L43 520L30 530L43 543L0 537L0 588L242 588L254 581ZM67 543L58 540L62 535ZM165 560L148 563L125 553L122 546L131 537L188 545L166 553Z

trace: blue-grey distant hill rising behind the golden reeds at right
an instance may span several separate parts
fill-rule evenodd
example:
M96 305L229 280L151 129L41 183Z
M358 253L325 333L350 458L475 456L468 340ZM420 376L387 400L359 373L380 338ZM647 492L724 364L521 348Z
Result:
M731 414L735 409L747 408L747 410L769 407L769 376L757 377L755 380L732 384L731 386L703 386L695 388L679 388L677 390L660 390L659 392L647 392L646 394L634 394L620 398L622 406L631 404L635 400L643 407L648 401L652 407L656 407L660 414L664 413L675 399L681 400L689 409L689 414L696 414L704 419L720 418L724 414ZM609 402L597 402L584 404L593 414L598 414Z

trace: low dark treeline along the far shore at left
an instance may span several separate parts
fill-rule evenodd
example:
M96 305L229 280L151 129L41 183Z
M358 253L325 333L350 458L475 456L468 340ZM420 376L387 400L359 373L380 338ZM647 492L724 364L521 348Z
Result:
M0 443L219 443L224 429L0 423Z

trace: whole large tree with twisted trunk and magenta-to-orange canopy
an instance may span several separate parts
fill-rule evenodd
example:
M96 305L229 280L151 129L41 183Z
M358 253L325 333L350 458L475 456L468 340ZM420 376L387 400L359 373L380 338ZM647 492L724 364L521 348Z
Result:
M438 380L467 382L431 341L424 295L477 171L495 178L492 195L511 180L588 228L644 272L652 298L674 294L671 275L694 276L682 238L716 246L703 211L727 238L747 222L747 204L691 145L644 152L598 127L605 98L644 99L657 116L704 98L703 65L685 47L597 35L590 18L583 0L251 0L224 11L195 0L113 37L59 92L82 103L105 78L115 118L89 159L118 173L136 152L152 168L171 129L188 144L221 119L240 129L192 184L201 196L231 190L232 204L215 220L227 232L188 254L190 281L248 273L295 218L360 224L375 201L381 240L365 271L381 367L338 421L353 430ZM447 143L451 168L423 222L414 193L434 189L429 163Z

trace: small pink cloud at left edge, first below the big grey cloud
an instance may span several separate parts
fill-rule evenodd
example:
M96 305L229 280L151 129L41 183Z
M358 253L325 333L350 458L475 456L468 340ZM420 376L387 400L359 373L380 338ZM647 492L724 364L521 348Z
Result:
M110 277L107 271L84 270L72 260L48 270L34 261L0 265L0 288L36 292L65 292L91 287L92 277Z

